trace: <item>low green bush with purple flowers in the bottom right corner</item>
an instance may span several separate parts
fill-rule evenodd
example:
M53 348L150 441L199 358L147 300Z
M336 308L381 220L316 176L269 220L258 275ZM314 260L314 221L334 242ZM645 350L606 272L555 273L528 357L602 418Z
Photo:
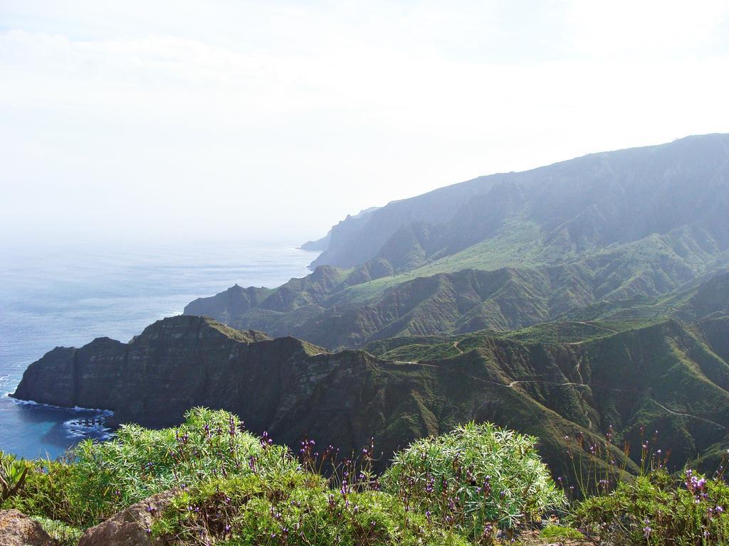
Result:
M577 504L574 523L601 539L627 546L729 544L729 486L687 470L682 480L654 470L615 491ZM697 542L700 541L700 542Z

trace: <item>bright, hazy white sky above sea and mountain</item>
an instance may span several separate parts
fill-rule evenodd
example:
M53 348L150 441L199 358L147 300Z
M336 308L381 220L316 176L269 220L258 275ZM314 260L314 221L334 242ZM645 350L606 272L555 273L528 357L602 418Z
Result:
M0 240L286 240L729 132L725 0L0 0Z

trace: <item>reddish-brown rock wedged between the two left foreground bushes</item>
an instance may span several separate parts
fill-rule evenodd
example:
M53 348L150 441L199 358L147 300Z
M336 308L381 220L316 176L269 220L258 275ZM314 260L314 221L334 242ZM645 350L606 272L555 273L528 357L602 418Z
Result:
M174 495L175 491L164 491L125 508L86 531L79 546L151 546L152 521Z

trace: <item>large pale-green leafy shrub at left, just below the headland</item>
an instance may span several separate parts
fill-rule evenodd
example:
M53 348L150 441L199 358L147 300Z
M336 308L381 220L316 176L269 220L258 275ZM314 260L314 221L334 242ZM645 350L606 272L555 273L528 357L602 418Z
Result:
M74 480L87 505L110 515L160 491L199 480L296 467L289 451L243 432L226 411L193 408L179 427L149 430L124 425L107 442L74 448Z

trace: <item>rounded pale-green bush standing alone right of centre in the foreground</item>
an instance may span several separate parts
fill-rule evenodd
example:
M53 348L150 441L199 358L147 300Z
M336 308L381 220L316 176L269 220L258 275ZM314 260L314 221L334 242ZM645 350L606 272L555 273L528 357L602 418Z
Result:
M467 424L411 444L383 476L386 491L472 539L566 504L535 439L493 424Z

